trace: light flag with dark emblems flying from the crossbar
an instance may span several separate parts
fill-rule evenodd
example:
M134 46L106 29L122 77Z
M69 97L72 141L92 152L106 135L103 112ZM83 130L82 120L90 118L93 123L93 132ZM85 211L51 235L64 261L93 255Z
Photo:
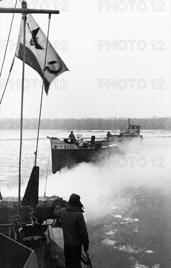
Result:
M42 77L42 79L44 73L46 44L47 37L37 25L32 15L28 14L26 20L25 63L31 66ZM23 19L21 19L15 56L23 60ZM48 41L44 84L46 94L48 94L51 81L65 71L68 71L67 66Z

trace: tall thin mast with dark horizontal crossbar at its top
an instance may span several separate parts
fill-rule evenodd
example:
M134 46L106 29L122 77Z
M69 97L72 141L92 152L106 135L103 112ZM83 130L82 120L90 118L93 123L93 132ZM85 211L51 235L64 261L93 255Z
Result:
M36 14L59 14L59 10L35 10L28 9L27 2L21 2L22 8L0 8L0 13L22 13L23 14L23 66L22 66L22 87L21 87L21 115L20 115L20 150L19 150L19 172L18 172L18 211L17 214L20 214L20 188L21 188L21 153L22 153L22 133L23 133L23 97L24 97L24 71L25 71L25 41L26 41L26 15L30 13Z

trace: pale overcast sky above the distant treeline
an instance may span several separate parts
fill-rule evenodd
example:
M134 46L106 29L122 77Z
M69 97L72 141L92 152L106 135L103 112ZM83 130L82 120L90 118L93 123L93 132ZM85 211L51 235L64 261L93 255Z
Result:
M42 118L170 116L170 1L28 1L59 9L49 40L69 71L43 95ZM12 7L15 1L0 2ZM113 5L113 6L112 6ZM18 1L18 7L20 2ZM47 35L48 15L34 14ZM0 66L12 14L0 15ZM15 54L21 15L15 14L1 81L2 95ZM16 58L1 117L20 117L22 62ZM41 77L25 68L23 117L39 116Z

